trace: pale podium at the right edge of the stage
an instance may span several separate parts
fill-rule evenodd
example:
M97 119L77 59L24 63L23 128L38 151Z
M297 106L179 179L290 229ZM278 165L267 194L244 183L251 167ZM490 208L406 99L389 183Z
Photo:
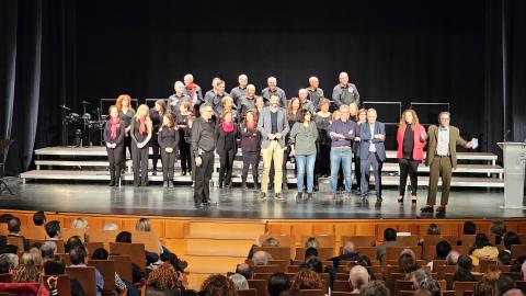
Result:
M498 143L504 155L504 206L501 208L526 208L524 206L524 170L526 143Z

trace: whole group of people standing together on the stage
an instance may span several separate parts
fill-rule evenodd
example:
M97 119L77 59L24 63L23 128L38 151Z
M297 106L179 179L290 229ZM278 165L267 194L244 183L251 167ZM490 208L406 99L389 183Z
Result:
M163 186L173 186L174 163L181 159L182 174L192 174L196 206L209 204L209 181L214 172L215 152L219 155L219 187L231 187L233 160L241 147L242 189L247 189L249 170L252 183L266 198L273 186L274 198L283 200L287 190L287 163L294 160L297 175L297 197L308 197L318 190L321 177L330 175L331 198L339 189L346 197L352 192L352 162L355 163L357 189L363 198L369 191L369 175L375 178L375 190L381 201L381 169L386 160L386 128L377 121L374 109L358 109L359 93L341 72L340 83L325 99L318 78L309 78L309 87L298 96L287 100L275 77L267 79L267 88L256 95L245 75L230 93L225 81L213 80L213 89L203 95L192 75L184 82L174 83L174 94L168 101L158 100L153 109L132 107L129 95L119 95L110 107L110 121L104 139L111 163L111 183L119 183L124 168L125 148L130 150L134 185L148 185L149 147L152 147L153 174L157 174L159 155L162 161ZM332 112L331 112L332 111ZM447 118L446 118L447 117ZM411 180L412 202L416 201L418 168L424 159L424 147L430 141L426 164L430 170L430 192L423 212L433 212L438 177L443 179L443 197L438 207L445 213L451 168L456 167L456 146L471 147L460 138L458 128L449 126L449 113L439 115L439 127L428 132L419 123L413 110L401 114L397 133L397 158L400 166L400 197L403 203L408 175ZM448 132L448 133L444 133ZM259 163L263 160L261 189Z

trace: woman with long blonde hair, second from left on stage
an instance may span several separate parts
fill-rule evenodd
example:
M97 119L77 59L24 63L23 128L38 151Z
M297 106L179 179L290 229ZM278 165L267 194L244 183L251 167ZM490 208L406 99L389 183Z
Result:
M132 144L132 160L134 162L134 186L148 186L148 155L149 141L152 137L152 124L148 114L148 105L137 109L132 119L129 134Z

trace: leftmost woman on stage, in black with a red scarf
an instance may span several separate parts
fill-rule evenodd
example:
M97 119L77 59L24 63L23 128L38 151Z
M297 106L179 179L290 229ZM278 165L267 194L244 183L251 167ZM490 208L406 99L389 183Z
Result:
M104 126L103 134L106 143L107 161L110 161L110 186L118 186L119 184L125 134L126 124L118 116L117 106L111 105L110 119Z

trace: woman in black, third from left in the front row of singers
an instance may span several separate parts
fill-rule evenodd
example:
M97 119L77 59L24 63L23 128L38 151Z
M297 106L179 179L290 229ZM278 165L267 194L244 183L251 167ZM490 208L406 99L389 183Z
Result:
M170 113L162 116L162 125L157 135L161 148L163 187L173 187L173 170L179 148L179 130Z

